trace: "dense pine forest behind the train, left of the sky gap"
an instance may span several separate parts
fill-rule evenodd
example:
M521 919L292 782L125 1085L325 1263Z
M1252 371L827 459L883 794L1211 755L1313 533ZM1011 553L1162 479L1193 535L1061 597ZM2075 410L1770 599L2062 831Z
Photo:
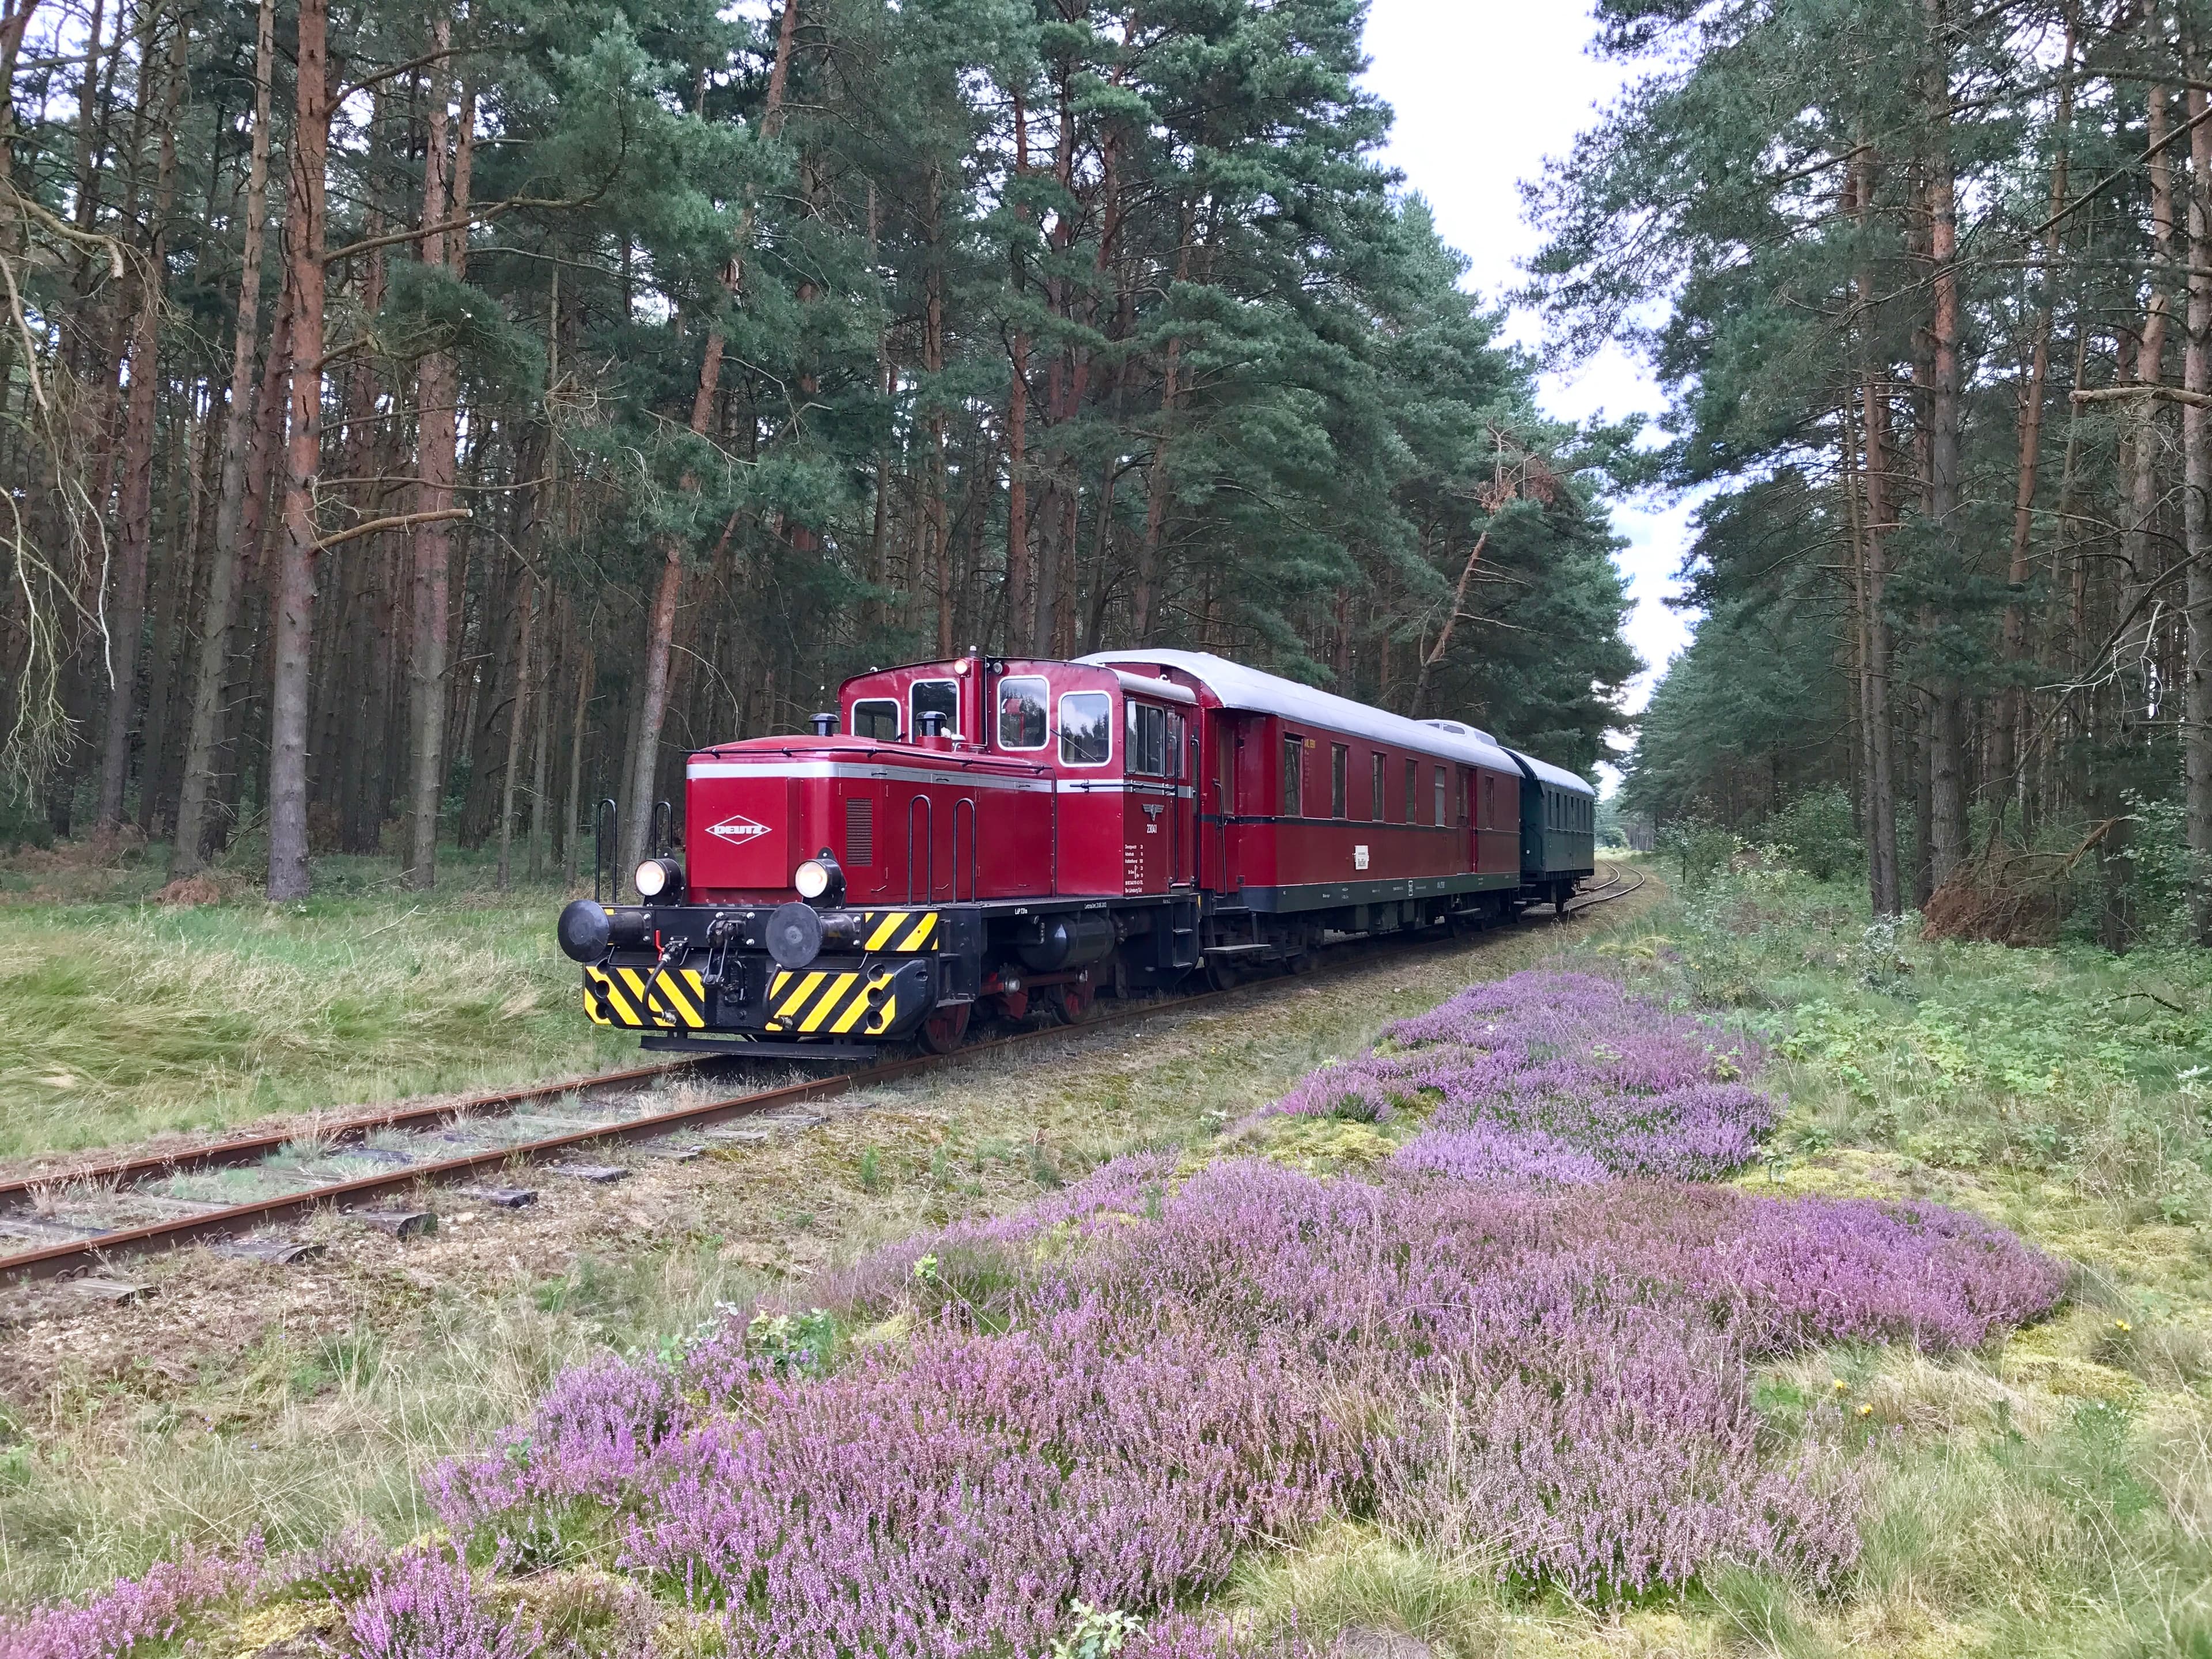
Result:
M170 872L624 867L688 748L1223 650L1588 765L1630 429L1376 159L1356 0L7 0L4 790Z

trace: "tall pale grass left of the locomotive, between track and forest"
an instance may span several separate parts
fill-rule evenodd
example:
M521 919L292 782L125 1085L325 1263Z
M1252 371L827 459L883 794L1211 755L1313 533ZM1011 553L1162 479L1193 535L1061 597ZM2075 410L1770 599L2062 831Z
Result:
M449 858L425 896L389 860L325 858L299 905L226 880L223 902L164 907L159 869L0 867L0 1159L635 1055L577 1018L551 885L502 894Z

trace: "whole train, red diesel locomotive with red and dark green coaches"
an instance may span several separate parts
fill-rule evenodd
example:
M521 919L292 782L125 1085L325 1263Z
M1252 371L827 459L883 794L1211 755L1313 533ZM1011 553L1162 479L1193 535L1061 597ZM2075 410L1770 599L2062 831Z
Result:
M684 858L575 900L584 1011L653 1048L860 1057L1332 938L1564 905L1595 792L1197 650L969 655L845 681L814 737L690 757Z

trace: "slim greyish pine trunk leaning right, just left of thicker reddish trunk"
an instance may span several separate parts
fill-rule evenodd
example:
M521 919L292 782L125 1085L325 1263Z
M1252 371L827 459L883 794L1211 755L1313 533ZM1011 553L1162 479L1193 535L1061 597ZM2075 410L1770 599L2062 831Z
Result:
M208 597L199 611L199 655L192 666L192 728L184 743L184 792L168 852L170 878L190 876L206 858L208 792L223 734L223 684L230 677L230 630L239 615L239 562L246 555L246 451L254 429L254 341L261 319L261 246L268 221L270 75L274 0L261 0L254 22L254 135L246 173L246 250L239 261L239 325L230 343L230 405L223 409L223 462L215 502L215 546ZM283 349L274 341L270 349Z

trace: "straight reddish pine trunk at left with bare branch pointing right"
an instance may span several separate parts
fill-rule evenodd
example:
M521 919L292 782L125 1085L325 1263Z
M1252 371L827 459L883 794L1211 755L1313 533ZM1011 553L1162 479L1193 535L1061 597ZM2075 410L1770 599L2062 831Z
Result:
M307 896L307 655L314 644L314 480L323 456L323 166L330 148L327 0L299 0L292 122L292 442L285 458L270 679L272 900Z

